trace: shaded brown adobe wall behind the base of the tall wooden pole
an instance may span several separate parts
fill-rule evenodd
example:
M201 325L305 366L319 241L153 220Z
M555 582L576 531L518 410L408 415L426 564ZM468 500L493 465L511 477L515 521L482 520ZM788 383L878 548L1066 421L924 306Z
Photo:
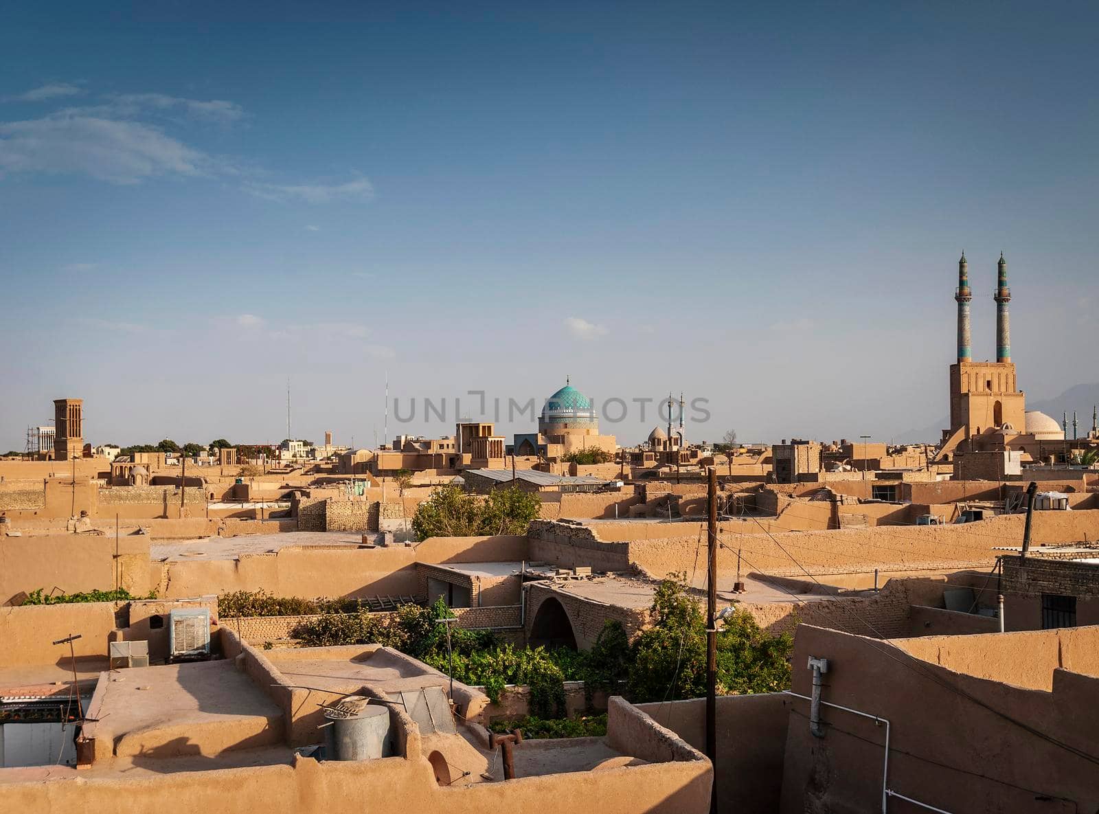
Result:
M780 692L717 699L719 812L778 810L790 704ZM706 751L706 699L637 704L637 709Z

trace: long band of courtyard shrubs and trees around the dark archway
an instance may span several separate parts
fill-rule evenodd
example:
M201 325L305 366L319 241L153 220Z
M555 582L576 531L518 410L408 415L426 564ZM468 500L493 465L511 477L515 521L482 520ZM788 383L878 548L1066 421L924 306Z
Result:
M653 598L654 624L631 645L619 622L608 621L590 650L514 647L485 631L446 625L454 614L440 599L431 607L402 605L393 614L363 610L338 612L346 601L277 599L263 592L237 592L221 600L248 615L277 615L281 609L329 612L299 625L292 635L307 646L381 644L420 659L455 680L485 688L497 703L507 684L530 687L530 712L539 718L565 716L565 681L584 681L590 707L596 692L624 694L631 701L665 701L706 694L706 629L702 611L687 593L686 575L664 580ZM300 604L304 603L304 604ZM352 605L354 606L354 605ZM724 621L718 633L718 692L775 692L790 685L789 634L771 636L746 611ZM548 736L547 736L548 737Z

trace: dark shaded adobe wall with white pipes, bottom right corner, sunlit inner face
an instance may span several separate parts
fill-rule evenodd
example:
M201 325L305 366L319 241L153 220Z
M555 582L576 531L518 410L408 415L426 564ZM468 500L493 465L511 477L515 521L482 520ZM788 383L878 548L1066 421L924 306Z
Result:
M1094 637L1091 650L1097 649ZM995 639L1007 645L984 644ZM795 643L793 691L810 694L808 659L826 658L823 700L890 722L888 787L928 805L1023 814L1036 811L1035 801L1043 800L1050 804L1039 805L1051 810L1095 811L1099 809L1095 765L1031 732L1086 747L1099 731L1099 709L1089 701L1099 693L1099 679L1055 670L1046 651L1052 653L1057 639L1065 637L1053 632L1009 633L895 643L907 649L950 648L952 664L964 661L967 669L983 669L991 658L1003 666L1003 676L1015 684L1011 685L912 659L879 642L803 626ZM1041 650L1042 665L1032 668L1040 660L1029 655L1034 647ZM1040 679L1043 671L1052 681ZM1026 689L1023 682L1052 684L1052 691ZM825 706L825 734L818 738L809 732L808 713L808 701L793 701L782 814L879 810L885 727Z

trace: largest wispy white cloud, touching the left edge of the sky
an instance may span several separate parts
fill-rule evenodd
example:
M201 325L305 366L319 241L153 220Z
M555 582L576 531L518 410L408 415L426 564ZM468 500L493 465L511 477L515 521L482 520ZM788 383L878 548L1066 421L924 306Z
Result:
M80 115L0 124L0 174L79 174L111 183L214 175L220 163L156 127Z

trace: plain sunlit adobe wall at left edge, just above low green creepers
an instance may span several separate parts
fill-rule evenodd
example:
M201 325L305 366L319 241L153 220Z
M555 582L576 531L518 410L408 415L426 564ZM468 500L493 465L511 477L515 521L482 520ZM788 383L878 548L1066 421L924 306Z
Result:
M91 534L41 537L0 537L0 604L20 592L54 588L63 593L111 590L120 586L141 596L149 592L148 537L126 536L118 542ZM118 562L118 575L115 573Z

